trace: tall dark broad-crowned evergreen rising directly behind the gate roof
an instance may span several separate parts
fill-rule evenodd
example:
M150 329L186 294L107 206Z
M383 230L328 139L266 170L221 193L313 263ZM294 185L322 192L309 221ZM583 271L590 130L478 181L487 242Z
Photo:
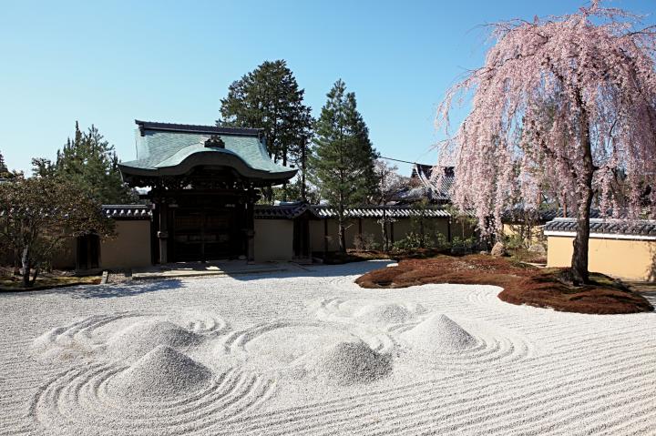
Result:
M313 127L312 109L303 104L304 93L284 60L266 61L232 83L228 96L220 101L217 120L218 126L263 129L273 161L301 166L302 199Z

